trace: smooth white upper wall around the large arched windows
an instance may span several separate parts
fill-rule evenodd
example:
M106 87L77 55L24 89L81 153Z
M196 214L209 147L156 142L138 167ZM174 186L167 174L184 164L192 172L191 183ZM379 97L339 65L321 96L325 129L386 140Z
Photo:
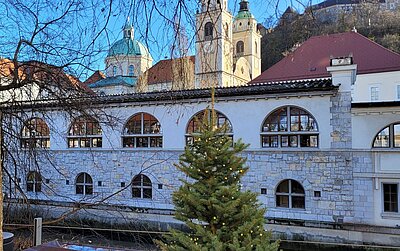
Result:
M121 133L126 121L136 113L146 112L152 114L161 123L163 149L183 149L189 120L208 105L208 102L145 106L131 103L107 108L106 112L116 117L117 121L113 128L102 124L102 148L122 148ZM260 132L264 119L275 109L287 105L297 106L310 112L318 123L319 149L330 148L332 129L330 126L330 96L328 95L219 101L215 104L215 109L230 120L235 140L242 138L245 143L250 144L250 149L261 149ZM51 114L51 117L51 149L67 149L66 136L71 123L69 117L56 113Z

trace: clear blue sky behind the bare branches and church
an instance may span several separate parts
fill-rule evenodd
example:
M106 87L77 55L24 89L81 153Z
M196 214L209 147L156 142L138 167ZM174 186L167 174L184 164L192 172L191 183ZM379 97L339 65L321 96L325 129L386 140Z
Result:
M233 15L238 11L239 2L228 0ZM299 12L303 10L299 1L249 2L257 21L267 26L271 23L266 20L276 19L287 6ZM180 9L182 4L184 8ZM154 62L157 62L171 56L173 22L178 16L193 48L198 6L197 0L114 0L111 5L108 0L0 0L0 56L12 58L20 38L30 40L34 34L36 20L37 29L40 29L47 21L62 17L34 37L34 46L23 44L18 60L68 64L69 70L84 80L93 70L104 70L107 50L122 37L122 27L129 16L135 28L135 38L147 45ZM180 15L174 12L176 9L182 10L177 12ZM66 10L71 12L62 16ZM193 49L189 50L189 54L194 54ZM70 65L71 62L73 64Z

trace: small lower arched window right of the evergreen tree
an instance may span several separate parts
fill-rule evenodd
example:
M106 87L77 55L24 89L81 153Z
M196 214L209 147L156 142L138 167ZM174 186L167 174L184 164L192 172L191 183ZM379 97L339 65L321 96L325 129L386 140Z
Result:
M277 207L305 208L304 188L295 180L281 181L275 195Z

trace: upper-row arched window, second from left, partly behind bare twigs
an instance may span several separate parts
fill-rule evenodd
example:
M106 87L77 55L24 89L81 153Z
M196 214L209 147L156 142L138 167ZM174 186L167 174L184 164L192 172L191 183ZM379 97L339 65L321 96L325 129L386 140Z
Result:
M74 120L68 132L69 148L102 146L102 130L97 120L82 116Z

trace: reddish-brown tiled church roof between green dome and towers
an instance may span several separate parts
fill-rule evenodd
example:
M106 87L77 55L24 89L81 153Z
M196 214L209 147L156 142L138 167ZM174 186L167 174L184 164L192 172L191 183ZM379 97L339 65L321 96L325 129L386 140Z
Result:
M195 64L195 57L189 56L190 61L193 62L193 67ZM160 60L157 64L153 65L150 69L147 70L148 79L147 83L158 84L158 83L166 83L172 82L172 64L176 59L165 59Z

